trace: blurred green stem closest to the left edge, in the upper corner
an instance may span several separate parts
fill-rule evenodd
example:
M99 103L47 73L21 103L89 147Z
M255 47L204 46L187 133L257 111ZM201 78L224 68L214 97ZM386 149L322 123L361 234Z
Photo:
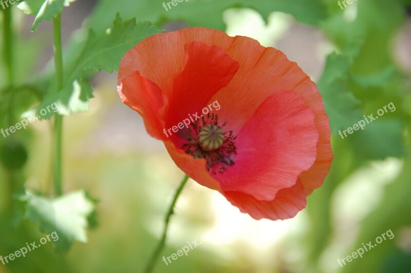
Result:
M3 27L4 27L4 60L7 66L8 82L10 86L14 84L13 70L13 30L12 30L12 14L11 8L3 11Z

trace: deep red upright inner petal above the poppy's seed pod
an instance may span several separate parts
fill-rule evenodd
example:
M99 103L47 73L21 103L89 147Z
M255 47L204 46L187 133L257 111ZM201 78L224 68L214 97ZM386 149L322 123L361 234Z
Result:
M226 86L238 70L238 63L221 48L200 42L186 44L184 70L176 77L173 93L165 110L165 127L171 128L189 119L206 106L210 98ZM176 134L171 138L177 147L182 142Z

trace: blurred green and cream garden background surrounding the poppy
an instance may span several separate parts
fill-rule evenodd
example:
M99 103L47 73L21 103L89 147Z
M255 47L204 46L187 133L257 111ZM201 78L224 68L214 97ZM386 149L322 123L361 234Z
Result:
M157 0L77 0L64 8L65 63L84 45L89 28L105 32L118 13L165 31L203 26L253 37L282 50L324 97L334 161L307 208L293 219L256 221L189 180L161 257L195 240L201 244L171 264L159 258L155 272L411 272L411 2L345 5L188 0L166 11ZM7 28L9 15L0 13L0 32L13 31L14 52L8 56L2 48L0 128L38 106L53 78L52 24L30 32L34 16L17 3L10 14ZM7 83L10 57L13 88ZM146 133L140 116L122 104L117 72L88 73L87 79L94 90L89 111L64 118L62 198L54 199L52 123L36 121L7 138L0 135L0 256L50 233L45 226L59 216L42 218L40 206L53 208L51 214L64 211L61 229L71 235L60 245L50 242L25 258L0 262L0 273L139 272L157 245L183 173ZM347 138L338 135L390 102L395 111ZM388 230L393 239L338 263Z

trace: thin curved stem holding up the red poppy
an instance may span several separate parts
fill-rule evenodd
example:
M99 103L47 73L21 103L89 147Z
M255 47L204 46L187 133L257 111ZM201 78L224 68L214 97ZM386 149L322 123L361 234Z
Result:
M183 188L184 188L184 186L185 186L185 183L187 182L188 179L189 179L189 177L188 177L187 175L185 175L185 177L184 177L183 180L181 181L181 184L180 184L180 186L178 187L176 193L174 194L174 198L173 198L173 201L171 202L171 205L170 205L170 207L169 207L169 210L167 211L167 214L165 214L165 221L164 221L165 224L164 224L163 235L162 235L162 237L161 237L160 242L158 243L158 246L157 246L156 250L153 252L153 255L152 255L150 261L148 262L148 264L147 264L147 266L146 266L146 268L145 268L145 270L144 270L144 273L150 273L150 272L152 272L153 269L154 269L154 266L155 266L156 263L157 263L157 258L158 258L158 256L160 255L160 252L161 252L161 250L163 249L164 244L165 244L165 239L166 239L166 237L167 237L167 230L169 229L170 218L171 218L171 216L172 216L173 213L174 213L174 206L176 205L177 199L178 199L178 197L180 196L180 193L181 193L181 191L183 190Z

